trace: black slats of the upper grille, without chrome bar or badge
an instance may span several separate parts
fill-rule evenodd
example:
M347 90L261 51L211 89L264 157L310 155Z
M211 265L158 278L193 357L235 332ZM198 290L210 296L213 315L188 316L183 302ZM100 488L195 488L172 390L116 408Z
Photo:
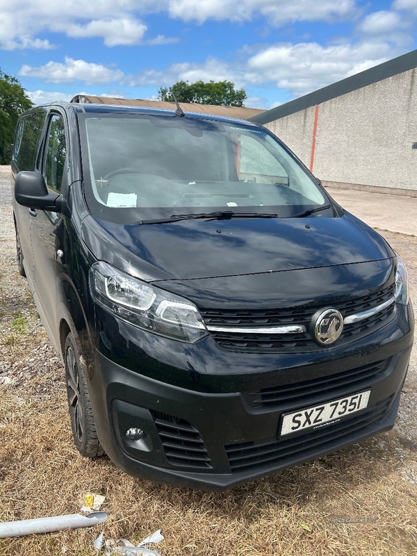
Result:
M323 300L320 304L308 306L284 307L279 309L200 309L207 327L272 327L280 325L304 325L309 328L314 313L319 309L332 306L341 312L343 317L361 313L388 301L394 295L394 284L382 288L375 293L352 297L343 302ZM391 304L375 315L345 325L336 345L359 339L375 332L392 318L395 304ZM320 351L327 346L318 345L308 332L303 334L248 334L246 332L215 332L211 331L213 339L230 351L244 352L306 352ZM331 346L333 347L333 345Z

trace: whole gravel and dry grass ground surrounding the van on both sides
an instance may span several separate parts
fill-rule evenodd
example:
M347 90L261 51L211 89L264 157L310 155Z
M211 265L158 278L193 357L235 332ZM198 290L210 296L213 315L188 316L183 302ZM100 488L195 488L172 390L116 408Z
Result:
M111 518L0 539L0 555L95 555L101 530L134 542L158 528L164 556L417 553L415 350L392 431L226 493L139 480L106 457L81 457L63 368L17 273L8 188L0 172L0 520L78 512L90 491L106 495ZM417 300L417 238L382 233L404 257Z

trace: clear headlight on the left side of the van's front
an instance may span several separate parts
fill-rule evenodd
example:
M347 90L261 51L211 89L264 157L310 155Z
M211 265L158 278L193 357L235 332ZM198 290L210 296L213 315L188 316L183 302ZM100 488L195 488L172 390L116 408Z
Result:
M154 334L188 343L208 334L193 303L102 261L92 265L90 290L99 305Z

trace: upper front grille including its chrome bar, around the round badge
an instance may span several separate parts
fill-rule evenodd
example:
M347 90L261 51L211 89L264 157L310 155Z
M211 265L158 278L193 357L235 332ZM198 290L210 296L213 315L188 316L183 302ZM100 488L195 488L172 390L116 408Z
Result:
M345 316L343 332L335 344L343 345L373 334L391 322L396 314L394 294L393 282L384 288L380 286L372 293L353 293L342 301L337 297L336 300L327 297L306 305L269 309L199 307L199 311L209 334L224 350L247 353L317 352L323 346L318 345L309 332L317 311L332 307ZM305 332L288 327L304 327ZM254 329L256 332L252 332Z

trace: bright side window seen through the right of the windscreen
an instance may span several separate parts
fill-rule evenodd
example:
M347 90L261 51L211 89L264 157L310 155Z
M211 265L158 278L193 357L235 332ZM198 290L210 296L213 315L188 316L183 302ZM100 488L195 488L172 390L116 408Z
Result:
M288 185L288 174L284 167L259 141L242 135L238 147L240 181Z

